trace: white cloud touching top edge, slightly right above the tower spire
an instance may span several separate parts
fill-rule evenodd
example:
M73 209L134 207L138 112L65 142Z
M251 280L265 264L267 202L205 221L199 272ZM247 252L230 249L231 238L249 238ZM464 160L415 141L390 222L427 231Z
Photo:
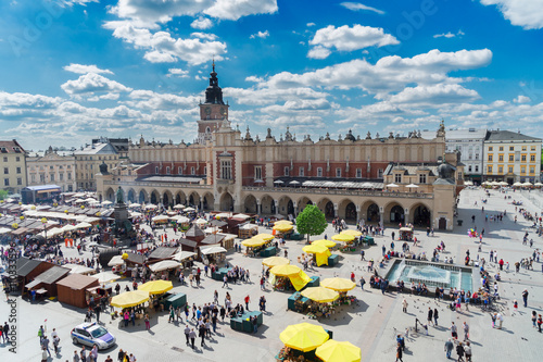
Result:
M237 21L247 15L273 14L277 10L277 0L215 0L215 3L203 13L217 18Z

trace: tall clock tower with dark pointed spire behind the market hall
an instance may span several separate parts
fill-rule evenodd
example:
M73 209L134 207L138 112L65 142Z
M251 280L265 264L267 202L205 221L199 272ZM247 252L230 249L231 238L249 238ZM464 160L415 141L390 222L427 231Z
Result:
M223 101L223 89L218 86L215 61L210 73L210 86L205 89L205 102L200 103L200 121L198 121L198 142L211 140L211 134L220 127L224 120L228 121L228 104Z

